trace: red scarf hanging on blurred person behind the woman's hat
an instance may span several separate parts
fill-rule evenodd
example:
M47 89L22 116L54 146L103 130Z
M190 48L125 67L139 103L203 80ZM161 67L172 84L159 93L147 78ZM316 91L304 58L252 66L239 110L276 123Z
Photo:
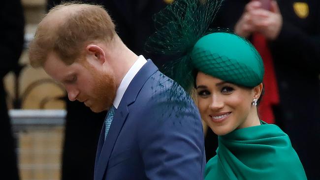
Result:
M279 92L272 56L263 35L255 33L252 43L260 53L264 64L263 84L265 92L258 106L259 118L267 123L274 123L272 105L279 104Z

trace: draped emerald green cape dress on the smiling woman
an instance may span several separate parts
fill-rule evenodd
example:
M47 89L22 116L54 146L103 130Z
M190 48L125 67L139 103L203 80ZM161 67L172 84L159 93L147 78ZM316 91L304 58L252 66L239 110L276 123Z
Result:
M219 136L217 155L205 168L205 180L306 179L288 135L263 121Z

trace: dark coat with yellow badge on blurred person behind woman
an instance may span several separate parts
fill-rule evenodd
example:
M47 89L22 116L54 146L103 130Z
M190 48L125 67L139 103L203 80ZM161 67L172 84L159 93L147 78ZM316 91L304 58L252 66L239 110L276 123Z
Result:
M225 0L213 27L233 30L248 2ZM280 105L274 109L276 124L289 135L308 179L316 180L320 177L320 1L278 0L278 4L283 26L277 39L269 41L280 94ZM214 136L207 137L206 143L210 142L215 142ZM206 144L207 159L215 150Z

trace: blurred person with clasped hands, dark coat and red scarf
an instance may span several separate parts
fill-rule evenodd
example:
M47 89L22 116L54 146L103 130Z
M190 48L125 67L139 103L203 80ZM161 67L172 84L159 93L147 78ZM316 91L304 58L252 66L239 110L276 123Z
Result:
M320 1L224 0L212 27L248 38L265 65L259 117L291 138L308 179L320 177ZM210 129L207 159L217 144Z

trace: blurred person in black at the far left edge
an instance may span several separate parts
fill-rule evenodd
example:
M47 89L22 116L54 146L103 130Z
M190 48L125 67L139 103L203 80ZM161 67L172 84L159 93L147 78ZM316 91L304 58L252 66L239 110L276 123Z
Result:
M18 68L18 61L24 43L24 14L20 0L5 0L1 2L0 18L2 23L2 38L0 41L0 144L1 164L5 167L1 172L7 180L19 180L17 166L16 142L12 134L12 126L6 105L6 92L3 87L3 77Z

